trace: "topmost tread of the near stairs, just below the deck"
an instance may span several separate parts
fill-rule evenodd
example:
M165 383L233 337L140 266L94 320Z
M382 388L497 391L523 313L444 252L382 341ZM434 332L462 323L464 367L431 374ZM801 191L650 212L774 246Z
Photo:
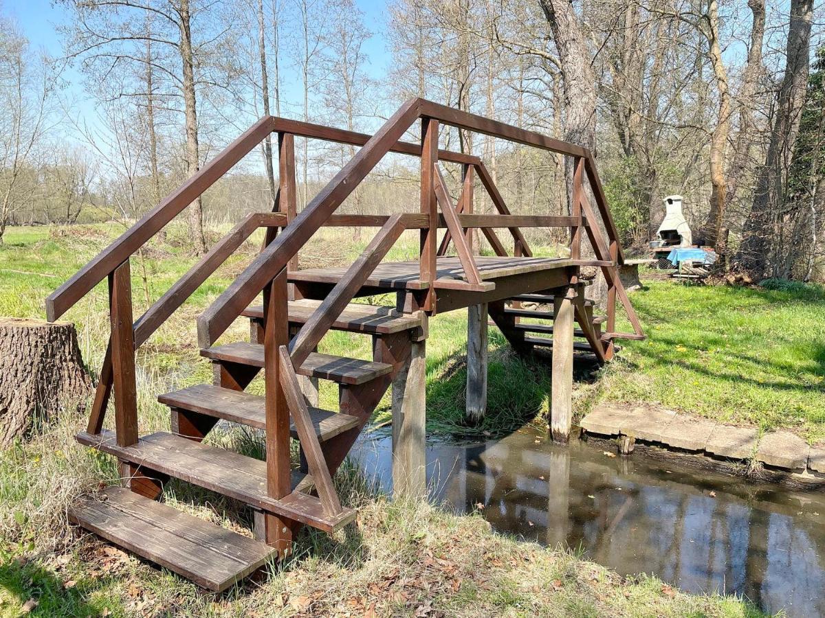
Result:
M320 305L321 301L309 298L290 301L290 324L304 324ZM255 320L262 320L263 307L261 305L249 307L241 315ZM361 305L357 302L351 302L344 308L338 319L332 323L332 328L354 333L392 335L402 330L419 328L421 325L420 316L398 313L394 307Z

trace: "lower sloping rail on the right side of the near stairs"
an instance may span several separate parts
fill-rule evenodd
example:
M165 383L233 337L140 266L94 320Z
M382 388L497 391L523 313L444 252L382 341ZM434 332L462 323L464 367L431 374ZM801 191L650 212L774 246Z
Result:
M395 214L384 223L375 238L361 253L358 259L352 263L347 272L338 280L332 291L323 299L323 302L309 317L299 330L298 335L290 344L290 356L292 363L300 367L309 354L318 345L323 335L332 327L332 324L347 307L347 304L356 295L364 282L369 278L375 267L387 255L395 241L407 229L404 225L403 214Z

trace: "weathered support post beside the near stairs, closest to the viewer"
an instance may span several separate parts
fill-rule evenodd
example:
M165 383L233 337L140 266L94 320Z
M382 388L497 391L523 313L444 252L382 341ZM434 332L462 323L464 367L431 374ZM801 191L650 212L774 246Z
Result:
M427 339L414 341L393 381L393 493L427 493Z

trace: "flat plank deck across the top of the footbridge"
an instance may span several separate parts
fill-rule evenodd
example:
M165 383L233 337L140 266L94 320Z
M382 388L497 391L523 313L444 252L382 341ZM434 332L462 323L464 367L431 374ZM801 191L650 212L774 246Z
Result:
M567 258L526 258L526 257L474 257L482 280L501 279L516 274L535 273L537 270L552 270L581 264L581 260ZM290 272L290 281L308 283L337 283L347 267L304 269ZM365 286L390 289L422 289L421 267L415 262L384 262L373 270L365 281ZM436 279L464 281L464 268L457 257L440 257L436 261Z

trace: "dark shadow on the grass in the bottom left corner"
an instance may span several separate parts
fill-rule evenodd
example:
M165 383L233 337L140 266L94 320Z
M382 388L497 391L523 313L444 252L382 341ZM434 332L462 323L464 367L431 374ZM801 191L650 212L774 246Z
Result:
M100 586L98 580L93 588ZM36 602L29 616L101 616L103 610L86 601L91 584L78 582L73 588L65 588L60 578L36 562L4 561L0 564L0 588L16 597L21 607L30 600ZM21 615L24 613L20 611Z

